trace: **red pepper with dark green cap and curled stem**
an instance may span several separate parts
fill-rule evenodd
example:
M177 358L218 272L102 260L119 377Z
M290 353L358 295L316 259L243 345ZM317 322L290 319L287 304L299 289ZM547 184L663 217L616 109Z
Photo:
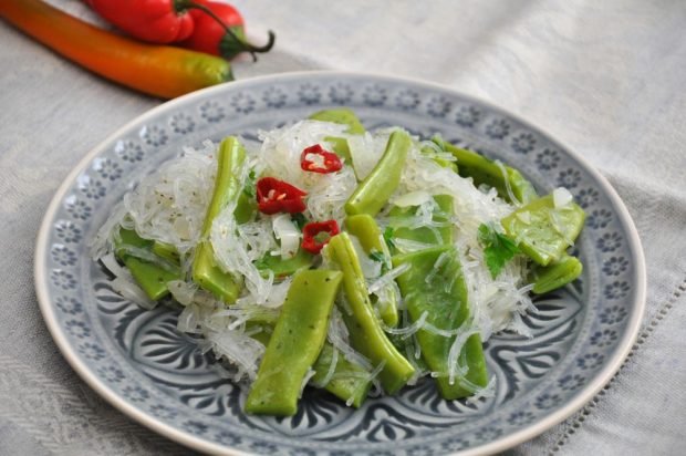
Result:
M181 44L194 51L220 55L231 60L241 52L268 52L274 45L274 34L269 32L269 41L256 46L246 41L245 22L236 8L218 1L202 1L205 9L190 10L195 20L195 31Z

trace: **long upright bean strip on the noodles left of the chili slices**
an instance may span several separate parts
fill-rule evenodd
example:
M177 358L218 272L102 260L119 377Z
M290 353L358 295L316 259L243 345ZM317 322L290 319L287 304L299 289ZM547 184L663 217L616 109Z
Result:
M215 191L207 209L202 225L202 240L196 248L191 270L193 280L197 284L227 303L236 302L240 286L228 272L217 266L209 234L212 222L221 210L241 194L239 176L245 158L246 152L236 137L230 136L219 145Z

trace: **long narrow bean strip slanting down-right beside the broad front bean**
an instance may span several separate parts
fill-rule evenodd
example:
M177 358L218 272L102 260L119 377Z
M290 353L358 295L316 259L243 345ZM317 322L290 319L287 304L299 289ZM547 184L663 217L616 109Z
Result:
M378 377L384 391L394 394L407 383L415 370L398 353L376 319L360 260L347 232L331 238L325 251L343 271L343 291L347 304L343 305L341 313L350 333L351 345L375 366L384 363Z

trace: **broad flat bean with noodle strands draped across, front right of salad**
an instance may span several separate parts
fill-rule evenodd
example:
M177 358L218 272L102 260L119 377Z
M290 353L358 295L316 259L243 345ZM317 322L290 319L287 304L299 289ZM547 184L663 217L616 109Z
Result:
M401 292L412 322L425 319L426 323L446 331L420 329L417 342L422 349L422 357L428 367L438 374L436 382L440 395L446 400L455 400L474 394L469 384L485 387L488 383L486 359L478 333L470 335L455 360L466 360L466 375L456 376L450 382L449 354L456 335L455 332L469 320L467 284L462 276L457 251L451 246L432 247L412 253L393 257L393 266L409 265L409 269L397 278Z

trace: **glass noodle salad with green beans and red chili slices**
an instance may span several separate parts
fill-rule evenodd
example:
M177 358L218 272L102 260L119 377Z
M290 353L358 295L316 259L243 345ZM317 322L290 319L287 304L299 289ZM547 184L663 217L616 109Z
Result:
M287 416L306 387L349 406L418 381L492 394L482 344L530 335L531 294L582 272L585 215L514 168L346 108L186 148L128 191L92 242L123 297L183 308L246 412ZM306 393L305 393L306 394Z

